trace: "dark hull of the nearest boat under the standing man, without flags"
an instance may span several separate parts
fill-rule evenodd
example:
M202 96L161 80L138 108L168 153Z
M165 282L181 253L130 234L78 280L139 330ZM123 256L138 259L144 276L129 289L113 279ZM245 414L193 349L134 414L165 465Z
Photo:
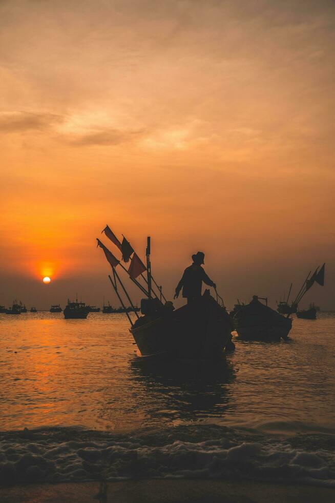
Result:
M210 295L155 319L143 317L131 328L142 356L172 355L187 359L216 359L231 341L233 325L225 309Z

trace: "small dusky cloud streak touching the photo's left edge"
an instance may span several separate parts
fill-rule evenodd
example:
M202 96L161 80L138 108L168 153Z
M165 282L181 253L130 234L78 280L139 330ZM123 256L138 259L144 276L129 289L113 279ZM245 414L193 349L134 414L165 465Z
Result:
M4 133L43 131L62 121L60 115L53 113L5 112L0 114L0 131Z

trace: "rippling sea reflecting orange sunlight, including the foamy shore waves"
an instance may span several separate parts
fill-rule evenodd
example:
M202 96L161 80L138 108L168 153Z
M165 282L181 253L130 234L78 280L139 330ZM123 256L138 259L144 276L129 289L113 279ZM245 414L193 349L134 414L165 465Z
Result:
M153 362L124 314L0 315L0 483L219 478L335 487L335 313L215 364Z

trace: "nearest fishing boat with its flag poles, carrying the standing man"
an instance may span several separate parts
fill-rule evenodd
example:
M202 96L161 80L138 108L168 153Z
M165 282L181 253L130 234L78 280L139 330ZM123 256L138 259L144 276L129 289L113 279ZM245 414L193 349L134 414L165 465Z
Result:
M106 229L108 232L106 232ZM150 237L148 237L146 246L146 267L134 252L130 243L127 241L127 248L122 247L109 227L104 229L105 234L122 251L122 258L126 256L129 260L133 254L132 262L126 269L120 261L114 257L111 251L99 240L104 254L112 266L113 279L109 276L114 291L121 302L123 312L127 315L131 324L130 333L139 350L139 355L146 358L161 358L162 356L172 357L173 359L192 359L192 360L215 360L222 358L224 349L233 350L232 331L234 325L229 317L221 299L222 305L217 299L210 295L206 290L204 294L193 303L184 305L175 309L171 301L167 301L162 293L162 287L159 286L151 273L150 263ZM125 240L125 238L124 238ZM128 256L126 251L130 249ZM124 269L130 279L135 283L145 298L141 300L141 316L135 309L134 303L125 289L117 271L119 266ZM146 271L146 278L143 272ZM138 278L141 278L145 284L141 284ZM154 283L158 289L158 294L152 288ZM135 321L130 316L129 309L125 307L120 295L118 286L121 286L124 295L131 304L132 311L135 314ZM165 303L162 302L164 300Z

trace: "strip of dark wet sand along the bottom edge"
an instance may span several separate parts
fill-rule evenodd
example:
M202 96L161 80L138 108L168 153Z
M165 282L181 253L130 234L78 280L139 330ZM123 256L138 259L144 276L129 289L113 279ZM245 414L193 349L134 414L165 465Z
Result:
M0 487L2 503L332 503L334 489L249 480L142 479Z

